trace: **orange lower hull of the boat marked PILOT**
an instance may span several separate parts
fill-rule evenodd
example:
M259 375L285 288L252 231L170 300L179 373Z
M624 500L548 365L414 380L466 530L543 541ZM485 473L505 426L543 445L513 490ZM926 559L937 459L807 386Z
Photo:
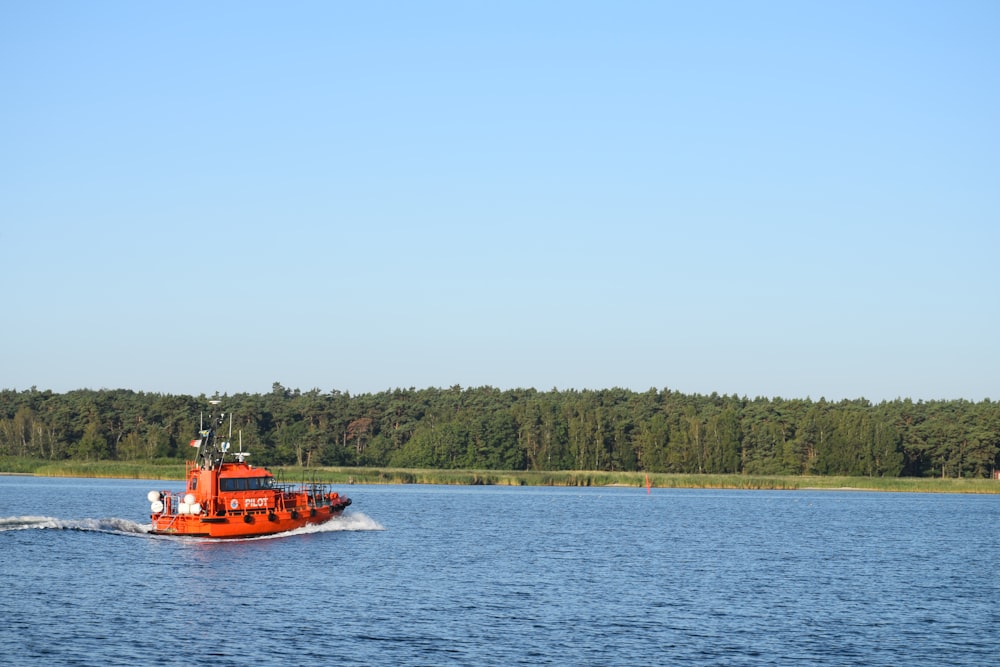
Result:
M154 514L154 535L177 537L246 538L274 535L309 525L320 525L343 514L343 507L314 507L292 511L248 511L225 516Z

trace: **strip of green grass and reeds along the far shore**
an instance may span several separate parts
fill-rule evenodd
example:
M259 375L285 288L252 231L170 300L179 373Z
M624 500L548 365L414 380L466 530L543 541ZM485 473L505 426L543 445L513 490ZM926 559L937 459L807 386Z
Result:
M0 474L39 477L92 477L181 481L183 463L123 463L119 461L41 461L0 457ZM350 484L445 484L496 486L624 486L643 487L642 472L586 470L423 470L404 468L298 468L275 466L275 476L287 482L303 480ZM650 473L654 488L758 489L758 490L861 490L923 493L1000 493L992 479L940 479L916 477L815 477L781 475L695 475Z

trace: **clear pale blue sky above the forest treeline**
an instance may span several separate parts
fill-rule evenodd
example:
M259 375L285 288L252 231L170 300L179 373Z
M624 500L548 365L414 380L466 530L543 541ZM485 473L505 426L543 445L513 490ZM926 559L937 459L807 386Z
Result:
M1000 3L0 1L0 388L1000 399Z

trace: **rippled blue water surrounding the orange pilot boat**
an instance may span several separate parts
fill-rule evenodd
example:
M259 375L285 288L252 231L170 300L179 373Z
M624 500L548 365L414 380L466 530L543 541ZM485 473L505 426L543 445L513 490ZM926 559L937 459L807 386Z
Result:
M146 534L178 483L0 477L8 665L1000 663L1000 496L351 486Z

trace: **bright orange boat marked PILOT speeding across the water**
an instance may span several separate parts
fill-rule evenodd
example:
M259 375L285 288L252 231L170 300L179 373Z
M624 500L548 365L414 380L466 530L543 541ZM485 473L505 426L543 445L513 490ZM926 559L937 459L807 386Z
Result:
M217 425L224 419L225 414ZM324 484L278 483L267 468L246 462L249 453L242 446L230 453L230 443L218 442L211 428L200 430L191 445L198 448L198 455L188 462L184 493L149 492L152 533L214 538L271 535L325 523L351 504L350 498Z

